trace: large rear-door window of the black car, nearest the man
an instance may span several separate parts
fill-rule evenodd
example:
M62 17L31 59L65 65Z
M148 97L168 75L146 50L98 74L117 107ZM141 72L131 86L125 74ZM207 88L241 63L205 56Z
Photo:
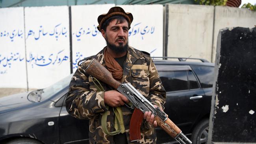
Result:
M167 92L187 90L187 70L158 71L163 87Z

